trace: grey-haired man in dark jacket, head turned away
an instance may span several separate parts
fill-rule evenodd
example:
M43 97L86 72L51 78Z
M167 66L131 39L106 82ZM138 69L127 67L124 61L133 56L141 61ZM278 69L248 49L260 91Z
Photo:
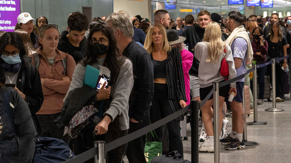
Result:
M133 66L134 86L129 97L129 133L150 122L149 107L154 95L154 68L148 52L132 40L133 25L126 11L113 12L106 20L113 30L118 52L128 57ZM126 156L129 163L146 163L144 156L146 136L128 143Z

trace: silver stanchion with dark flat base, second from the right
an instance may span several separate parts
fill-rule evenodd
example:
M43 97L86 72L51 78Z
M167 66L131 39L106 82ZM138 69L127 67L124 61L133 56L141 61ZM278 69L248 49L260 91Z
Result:
M253 99L254 99L254 121L253 122L247 122L249 125L263 125L267 124L267 121L265 122L257 122L258 121L258 103L257 103L257 98L258 98L258 90L257 90L257 83L258 83L258 78L257 78L257 65L253 64L254 70L253 70Z

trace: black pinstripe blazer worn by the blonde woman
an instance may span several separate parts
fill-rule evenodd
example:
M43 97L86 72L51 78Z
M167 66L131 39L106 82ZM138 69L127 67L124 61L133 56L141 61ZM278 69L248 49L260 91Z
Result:
M168 86L168 99L171 105L172 113L182 109L179 101L187 101L185 93L185 82L182 67L182 56L178 48L171 48L167 52L166 59L166 82ZM153 59L151 54L151 59ZM183 115L177 117L175 121L182 121Z

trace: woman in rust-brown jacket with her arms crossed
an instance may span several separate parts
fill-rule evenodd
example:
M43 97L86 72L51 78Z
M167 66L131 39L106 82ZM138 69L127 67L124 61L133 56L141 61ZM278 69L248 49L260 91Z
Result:
M69 143L69 137L63 136L64 130L53 121L60 115L76 64L72 56L57 49L58 41L59 31L55 25L41 27L40 48L31 56L32 64L36 65L41 77L44 93L44 103L36 114L41 122L41 136L55 137Z

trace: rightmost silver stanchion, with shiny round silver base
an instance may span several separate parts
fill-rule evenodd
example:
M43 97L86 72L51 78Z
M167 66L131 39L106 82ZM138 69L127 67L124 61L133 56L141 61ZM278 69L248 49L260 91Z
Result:
M284 111L284 109L280 109L276 107L276 62L275 58L273 58L272 63L272 92L273 92L273 105L271 108L265 109L267 112L281 112Z

